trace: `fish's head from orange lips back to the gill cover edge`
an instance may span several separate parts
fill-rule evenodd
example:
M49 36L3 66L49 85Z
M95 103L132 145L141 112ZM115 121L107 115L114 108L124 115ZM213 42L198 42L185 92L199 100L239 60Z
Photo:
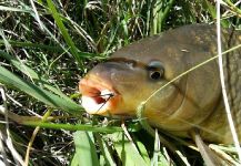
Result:
M80 81L82 106L90 114L133 117L148 100L144 116L154 126L183 131L201 123L218 100L218 92L204 92L219 89L214 62L177 79L211 58L212 46L197 33L171 30L114 52Z

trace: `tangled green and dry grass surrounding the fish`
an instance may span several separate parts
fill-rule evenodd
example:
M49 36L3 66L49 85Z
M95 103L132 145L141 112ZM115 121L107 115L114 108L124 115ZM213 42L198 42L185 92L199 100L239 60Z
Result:
M240 28L235 1L222 25ZM190 23L215 22L208 0L0 1L1 160L13 165L200 165L191 143L172 153L139 120L92 116L78 82L117 49ZM77 132L79 131L79 132ZM143 136L144 135L144 136ZM170 142L172 137L168 137ZM232 147L219 147L233 154ZM220 151L221 151L220 149Z

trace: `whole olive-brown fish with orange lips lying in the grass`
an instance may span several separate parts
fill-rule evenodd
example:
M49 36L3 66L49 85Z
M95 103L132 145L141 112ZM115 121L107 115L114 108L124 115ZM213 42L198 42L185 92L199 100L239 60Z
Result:
M222 50L241 43L241 33L222 29ZM217 30L189 24L133 42L96 65L79 82L81 104L89 114L137 117L137 107L160 87L217 55ZM223 55L224 82L234 126L241 141L241 49ZM143 117L157 128L191 138L233 144L217 59L158 91L144 106Z

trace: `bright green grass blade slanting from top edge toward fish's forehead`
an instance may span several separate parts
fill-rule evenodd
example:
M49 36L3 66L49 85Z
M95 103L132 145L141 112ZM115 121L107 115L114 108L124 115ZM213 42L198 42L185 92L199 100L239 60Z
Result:
M56 20L57 25L59 27L59 30L61 31L64 41L67 42L67 44L70 48L70 52L72 53L72 55L76 58L77 62L79 63L79 66L82 66L82 62L81 62L81 55L83 56L83 54L79 54L78 53L78 49L76 48L73 41L71 40L62 20L61 17L59 15L54 3L52 2L52 0L47 0L50 12L52 13L53 19Z

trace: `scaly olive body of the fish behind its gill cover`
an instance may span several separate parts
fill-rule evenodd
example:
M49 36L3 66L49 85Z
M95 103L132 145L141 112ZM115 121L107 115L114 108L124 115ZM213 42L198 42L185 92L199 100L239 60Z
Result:
M222 46L224 50L241 44L241 34L239 31L229 30L223 35ZM229 105L239 139L241 141L241 50L237 49L223 55L222 59ZM208 139L220 143L232 143L232 135L228 124L222 95L220 95L220 102L217 108L202 125L203 128L209 128L210 132L213 131L214 133L205 133L204 138L207 137Z

